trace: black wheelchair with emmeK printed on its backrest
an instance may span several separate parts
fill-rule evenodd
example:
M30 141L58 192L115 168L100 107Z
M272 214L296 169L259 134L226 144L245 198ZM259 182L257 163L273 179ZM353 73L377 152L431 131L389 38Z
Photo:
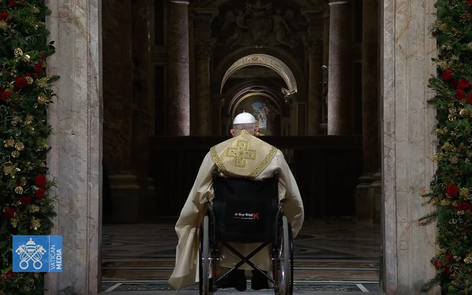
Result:
M213 172L213 203L207 203L207 211L200 224L200 295L212 295L218 290L219 283L244 263L273 284L275 295L293 294L292 227L283 214L285 199L278 201L278 176L276 172L274 177L255 181L219 177L218 171ZM228 243L262 244L244 256ZM227 247L241 261L217 278L219 244ZM250 261L269 244L272 277Z

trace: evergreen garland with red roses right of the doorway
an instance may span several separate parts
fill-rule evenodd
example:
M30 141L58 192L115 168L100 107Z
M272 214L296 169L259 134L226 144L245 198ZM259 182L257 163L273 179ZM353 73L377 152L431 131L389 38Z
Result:
M439 0L430 32L438 42L438 76L428 86L437 110L438 169L425 197L436 210L421 221L437 222L436 276L443 294L472 294L472 0Z

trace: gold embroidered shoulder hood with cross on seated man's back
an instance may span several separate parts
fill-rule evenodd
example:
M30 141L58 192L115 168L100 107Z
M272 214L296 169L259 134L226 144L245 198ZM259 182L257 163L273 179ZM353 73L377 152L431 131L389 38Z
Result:
M257 177L274 158L277 148L251 135L246 130L213 146L211 157L226 176Z

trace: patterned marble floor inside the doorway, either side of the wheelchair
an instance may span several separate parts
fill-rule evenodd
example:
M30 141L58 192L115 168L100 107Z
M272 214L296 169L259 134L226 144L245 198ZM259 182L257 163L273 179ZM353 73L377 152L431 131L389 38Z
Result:
M102 240L104 293L172 292L167 279L175 260L174 223L104 225ZM294 247L298 293L380 291L379 226L351 219L307 220ZM195 290L191 286L183 291L194 294Z

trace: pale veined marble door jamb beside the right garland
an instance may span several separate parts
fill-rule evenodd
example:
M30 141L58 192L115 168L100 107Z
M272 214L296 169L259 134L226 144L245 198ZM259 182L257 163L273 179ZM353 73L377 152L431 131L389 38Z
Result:
M429 192L435 165L435 111L426 91L436 67L436 40L428 34L435 0L383 0L380 101L382 103L382 249L387 295L420 295L433 278L436 228L418 219L433 210ZM438 287L428 292L438 295Z

